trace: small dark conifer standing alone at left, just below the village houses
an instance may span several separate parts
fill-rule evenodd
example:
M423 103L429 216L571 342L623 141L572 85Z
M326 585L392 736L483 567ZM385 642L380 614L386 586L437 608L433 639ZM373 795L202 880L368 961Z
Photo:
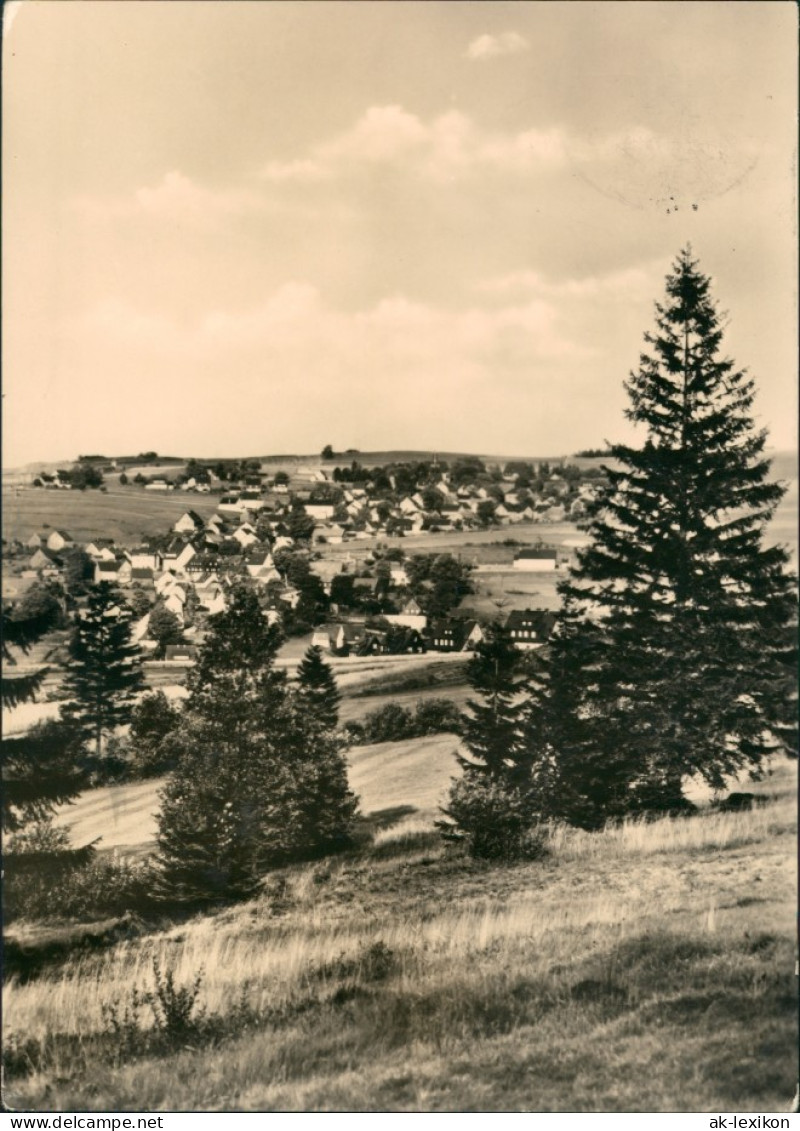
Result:
M85 740L94 742L97 759L103 735L129 722L144 685L131 621L130 607L109 581L92 589L76 618L62 715L79 727Z

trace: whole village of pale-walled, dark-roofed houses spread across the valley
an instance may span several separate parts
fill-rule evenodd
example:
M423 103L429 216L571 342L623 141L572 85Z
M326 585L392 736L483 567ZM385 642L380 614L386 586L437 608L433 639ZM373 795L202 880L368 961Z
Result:
M530 483L518 482L517 476L499 473L491 482L479 475L474 482L465 484L459 480L455 484L446 469L435 467L424 483L407 493L397 490L401 481L392 469L387 469L386 477L390 491L386 490L387 483L373 491L370 482L342 481L336 475L332 482L330 474L321 468L298 468L291 477L252 475L240 484L226 485L212 517L187 509L169 537L135 547L97 537L77 549L87 555L85 563L95 581L145 590L152 604L163 605L186 627L184 639L189 640L198 620L201 623L204 616L224 608L225 585L234 579L248 578L263 593L265 614L273 621L285 620L289 611L296 610L301 590L276 567L275 555L283 549L296 549L298 541L303 549L309 543L320 549L324 544L378 535L485 526L488 516L493 524L574 519L584 512L595 489L591 480L576 484L573 477L568 484L558 468L547 478L547 498L537 498L528 490ZM406 484L407 478L403 480ZM191 478L180 484L189 492L205 491L207 486ZM148 487L172 490L173 484L158 480ZM32 535L21 547L29 553L23 576L58 578L72 547L75 539L63 529ZM364 554L360 550L358 560L353 552L310 556L310 572L321 582L330 608L332 622L313 632L313 642L320 648L332 654L364 655L389 650L470 651L480 642L483 630L475 620L424 615L410 592L402 561L389 562L388 576L384 568L379 580L363 569L375 561L370 551ZM514 559L514 569L524 571L549 571L558 564L557 551L542 545L521 549ZM339 606L332 596L342 573L352 577L352 592L359 598L355 607ZM387 596L387 590L390 599L379 599ZM376 612L378 607L389 611ZM364 608L370 612L364 613ZM509 613L507 627L515 644L525 649L540 647L551 625L547 614L526 611ZM137 625L136 634L143 647L153 647L147 616ZM191 644L170 646L167 659L191 658Z

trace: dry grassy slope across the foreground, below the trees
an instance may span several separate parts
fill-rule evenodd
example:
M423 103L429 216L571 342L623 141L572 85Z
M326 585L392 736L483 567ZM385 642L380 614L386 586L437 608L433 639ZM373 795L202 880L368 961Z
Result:
M6 1102L785 1111L794 767L762 792L749 812L556 829L548 860L501 867L408 813L368 851L273 873L256 901L10 981ZM201 973L197 1024L120 1024L154 959L179 988Z

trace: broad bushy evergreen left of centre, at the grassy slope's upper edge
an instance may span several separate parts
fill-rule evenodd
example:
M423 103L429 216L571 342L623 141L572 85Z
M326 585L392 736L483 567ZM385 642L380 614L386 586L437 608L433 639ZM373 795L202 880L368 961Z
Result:
M160 745L177 761L158 818L171 899L248 896L267 869L349 843L356 802L341 744L274 670L278 642L251 590L212 620L181 720Z

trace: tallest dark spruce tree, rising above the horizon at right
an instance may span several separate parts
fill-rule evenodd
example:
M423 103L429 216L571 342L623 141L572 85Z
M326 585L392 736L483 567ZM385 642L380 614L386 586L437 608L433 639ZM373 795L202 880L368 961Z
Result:
M769 481L755 383L721 353L690 249L655 309L626 382L644 443L611 449L551 647L552 679L569 680L565 815L587 826L682 805L688 775L720 788L794 743L794 578L786 551L765 545L784 487Z

